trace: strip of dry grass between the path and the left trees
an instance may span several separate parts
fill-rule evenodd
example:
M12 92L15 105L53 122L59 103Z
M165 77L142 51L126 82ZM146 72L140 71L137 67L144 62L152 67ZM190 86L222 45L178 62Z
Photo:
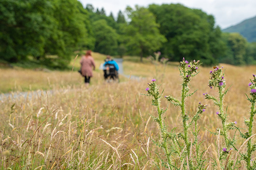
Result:
M104 62L106 55L99 53L92 53L96 70L94 71L94 77L91 79L92 84L103 83L103 73L99 70L99 66ZM37 89L56 89L62 88L68 85L81 85L84 78L77 72L80 68L81 56L78 56L75 60L70 62L72 67L74 64L74 71L52 71L47 69L23 69L15 67L14 69L0 68L0 93L8 93L10 91L28 91ZM125 81L124 77L120 77L121 81Z

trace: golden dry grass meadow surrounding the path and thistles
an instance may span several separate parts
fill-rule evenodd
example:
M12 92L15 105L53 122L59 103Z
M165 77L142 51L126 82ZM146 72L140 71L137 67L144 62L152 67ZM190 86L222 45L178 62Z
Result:
M94 53L94 57L98 68L105 56ZM96 69L92 84L85 87L76 71L79 60L76 59L73 72L0 69L0 78L4 80L0 84L2 93L52 89L51 93L32 94L27 98L0 99L1 168L164 169L159 159L160 156L165 160L163 151L148 140L150 137L161 141L158 126L150 116L156 116L156 110L151 99L142 94L146 94L147 83L155 78L161 84L160 90L164 89L163 96L180 96L178 63L154 65L147 60L138 63L131 57L125 57L124 73L142 76L139 81L122 77L121 83L104 83L101 70ZM243 121L249 110L245 93L248 94L249 79L256 67L220 66L226 68L227 86L232 85L225 96L229 120L245 128ZM191 91L198 90L186 101L186 109L194 114L198 102L208 104L199 121L202 127L199 141L203 141L203 149L212 145L206 154L210 158L215 157L216 136L206 129L216 131L221 124L217 119L216 106L202 95L206 92L217 94L207 86L212 68L200 67L199 70L200 73L191 81ZM163 97L161 107L166 108L167 104ZM180 110L169 104L164 115L168 129L181 129L179 113ZM239 148L243 141L238 137L235 147ZM179 160L179 156L173 158ZM230 159L233 158L234 154ZM243 162L238 168L244 169Z

